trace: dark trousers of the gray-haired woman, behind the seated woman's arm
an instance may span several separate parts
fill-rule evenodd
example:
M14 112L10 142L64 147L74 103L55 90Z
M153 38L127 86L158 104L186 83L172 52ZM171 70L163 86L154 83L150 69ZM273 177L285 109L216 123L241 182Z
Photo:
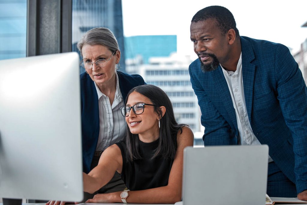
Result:
M100 157L94 157L92 164L91 164L91 170L97 166L98 161ZM84 192L84 199L83 202L85 202L87 199L92 199L95 194L103 194L103 193L111 193L115 191L123 191L126 188L126 184L122 180L122 177L119 175L118 172L115 172L113 178L107 183L105 186L100 188L98 191L96 191L93 194Z

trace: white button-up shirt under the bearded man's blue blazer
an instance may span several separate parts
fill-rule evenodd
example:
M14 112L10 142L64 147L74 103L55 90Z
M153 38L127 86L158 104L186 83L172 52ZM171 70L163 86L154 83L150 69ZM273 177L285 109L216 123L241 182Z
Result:
M227 81L229 92L232 99L233 107L235 108L235 115L237 118L239 130L239 144L241 145L261 145L257 137L251 129L251 124L248 119L242 77L242 53L240 55L237 70L227 71L221 65L223 74ZM273 161L269 156L269 162Z

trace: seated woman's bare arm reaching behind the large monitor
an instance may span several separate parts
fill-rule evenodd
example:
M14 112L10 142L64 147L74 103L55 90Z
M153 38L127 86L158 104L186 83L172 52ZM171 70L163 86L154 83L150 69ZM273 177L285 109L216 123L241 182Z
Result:
M122 153L117 145L111 145L103 151L98 165L88 174L83 173L83 189L94 193L106 185L115 171L122 171Z

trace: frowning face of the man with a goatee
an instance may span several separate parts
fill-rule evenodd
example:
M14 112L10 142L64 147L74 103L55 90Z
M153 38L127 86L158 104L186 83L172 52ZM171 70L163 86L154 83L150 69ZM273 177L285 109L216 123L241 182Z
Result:
M228 37L222 34L215 19L192 22L190 32L194 52L204 71L215 70L219 64L223 65L229 60Z

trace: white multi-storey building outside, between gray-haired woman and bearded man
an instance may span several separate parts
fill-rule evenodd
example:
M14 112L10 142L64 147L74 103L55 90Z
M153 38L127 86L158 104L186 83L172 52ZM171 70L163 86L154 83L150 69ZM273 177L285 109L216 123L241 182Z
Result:
M200 109L192 89L188 66L190 56L152 57L149 64L141 64L142 58L126 60L126 72L140 74L147 84L160 87L173 103L177 122L190 126L193 132L203 131Z

